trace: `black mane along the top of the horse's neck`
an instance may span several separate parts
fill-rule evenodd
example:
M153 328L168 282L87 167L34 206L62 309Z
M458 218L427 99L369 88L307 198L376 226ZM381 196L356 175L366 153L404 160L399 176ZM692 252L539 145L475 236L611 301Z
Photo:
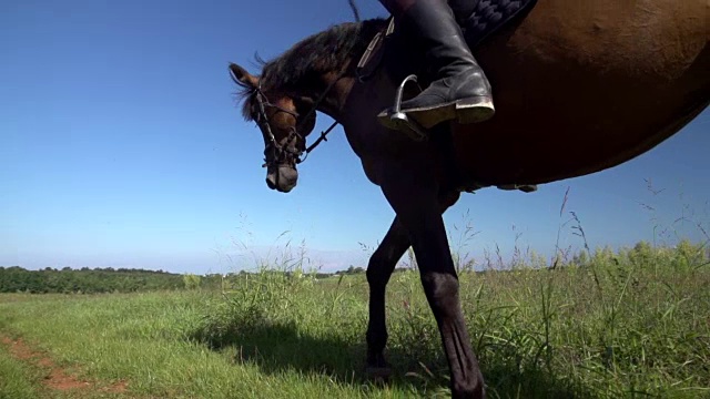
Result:
M257 55L256 62L262 66L261 89L296 90L315 84L323 73L339 70L348 59L359 57L386 22L375 18L335 24L303 39L271 61ZM239 81L236 84L241 88L237 95L244 100L242 114L248 121L254 89Z

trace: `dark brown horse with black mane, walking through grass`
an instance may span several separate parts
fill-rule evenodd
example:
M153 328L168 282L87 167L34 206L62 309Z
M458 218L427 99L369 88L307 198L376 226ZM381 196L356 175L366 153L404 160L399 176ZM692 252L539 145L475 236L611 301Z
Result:
M494 88L496 115L480 124L437 126L424 142L388 131L375 117L393 104L399 75L379 68L366 80L356 76L384 20L314 34L265 63L261 75L230 65L243 89L244 115L264 136L271 188L295 186L317 110L343 125L365 174L396 212L367 267L369 371L387 370L385 286L412 246L448 359L452 393L485 397L442 213L462 187L595 173L678 132L710 100L708 14L706 0L539 0L525 19L474 49ZM383 64L407 72L394 58Z

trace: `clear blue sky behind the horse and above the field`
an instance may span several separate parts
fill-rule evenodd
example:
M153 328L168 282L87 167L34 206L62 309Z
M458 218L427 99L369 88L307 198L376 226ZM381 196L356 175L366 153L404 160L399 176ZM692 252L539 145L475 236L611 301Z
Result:
M377 1L357 3L363 18L386 14ZM242 120L226 71L230 61L254 71L256 51L277 55L352 19L345 0L3 1L0 265L227 272L291 239L305 243L308 266L364 266L359 243L372 249L394 214L342 130L302 165L292 193L268 190L260 133ZM331 122L321 115L316 129ZM625 165L534 194L467 194L446 221L453 231L468 212L476 257L496 244L509 256L516 233L550 255L570 187L567 209L592 247L652 239L653 225L683 214L708 229L709 130L706 111ZM645 178L665 191L652 195ZM703 239L691 223L674 227ZM581 242L567 226L560 244ZM243 245L254 255L237 256Z

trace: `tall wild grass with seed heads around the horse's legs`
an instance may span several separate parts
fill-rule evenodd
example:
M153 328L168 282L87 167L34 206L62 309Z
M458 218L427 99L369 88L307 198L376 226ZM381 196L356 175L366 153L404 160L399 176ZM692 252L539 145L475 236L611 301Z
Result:
M556 269L464 272L462 300L491 397L698 398L710 387L710 272L700 245L580 253ZM215 299L195 338L267 372L363 378L363 276L263 272ZM395 385L445 391L438 330L414 272L387 296Z

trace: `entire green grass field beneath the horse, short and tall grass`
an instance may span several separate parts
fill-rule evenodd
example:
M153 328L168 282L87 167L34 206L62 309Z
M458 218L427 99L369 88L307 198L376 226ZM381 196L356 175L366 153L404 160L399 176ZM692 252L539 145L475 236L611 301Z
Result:
M295 272L222 291L2 295L0 398L446 397L416 270L388 286L386 386L363 374L365 276ZM460 283L490 398L710 397L706 248L597 250ZM18 356L18 341L34 357ZM58 369L79 383L49 383Z

